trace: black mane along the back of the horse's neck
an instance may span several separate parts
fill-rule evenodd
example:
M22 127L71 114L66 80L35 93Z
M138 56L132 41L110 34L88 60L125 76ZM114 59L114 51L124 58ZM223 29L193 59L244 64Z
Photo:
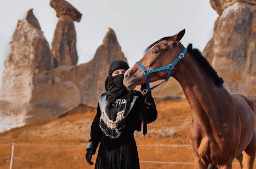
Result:
M189 43L187 46L187 52L189 52L196 60L198 65L215 80L217 86L222 86L224 80L220 77L217 72L212 68L206 58L203 57L202 53L197 49L193 48L192 44Z

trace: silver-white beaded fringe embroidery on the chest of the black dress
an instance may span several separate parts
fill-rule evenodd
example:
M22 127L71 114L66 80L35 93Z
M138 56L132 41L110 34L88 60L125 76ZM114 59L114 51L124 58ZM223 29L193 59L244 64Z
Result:
M111 138L118 138L120 136L121 129L125 127L124 111L126 104L126 99L116 99L112 105L106 106L101 111L99 127L106 136Z

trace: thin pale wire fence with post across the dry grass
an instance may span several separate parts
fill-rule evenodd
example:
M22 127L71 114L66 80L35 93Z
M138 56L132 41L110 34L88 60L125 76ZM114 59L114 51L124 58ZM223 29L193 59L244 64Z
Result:
M10 144L0 144L0 146L10 146ZM10 160L10 169L12 169L13 166L13 159L17 159L17 160L23 160L26 162L30 162L33 163L35 165L42 165L40 163L38 163L38 161L33 161L31 159L26 159L26 158L20 158L15 156L15 152L14 152L14 147L24 147L24 146L29 146L29 147L83 147L86 148L87 145L86 144L80 144L80 145L47 145L47 144L25 144L25 143L19 143L19 144L15 144L13 143L12 145L12 151L11 151L11 156L4 156L4 157L0 157L0 159L11 159ZM191 145L161 145L161 144L155 144L155 145L137 145L137 147L173 147L173 148L177 148L177 147L188 147L191 148ZM140 160L140 163L162 163L162 164L188 164L188 165L193 165L194 162L184 162L184 161L150 161L150 160ZM238 162L233 162L232 164L239 164ZM75 164L76 166L84 166L82 164ZM45 167L47 165L44 165ZM59 166L74 166L74 164L65 164L65 163L59 163L58 165L50 165L51 167L59 167Z

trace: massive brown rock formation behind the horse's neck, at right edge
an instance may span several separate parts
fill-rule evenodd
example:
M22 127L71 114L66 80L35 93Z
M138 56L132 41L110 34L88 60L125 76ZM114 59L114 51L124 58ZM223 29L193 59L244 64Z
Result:
M256 1L211 0L220 16L204 56L229 92L256 100Z

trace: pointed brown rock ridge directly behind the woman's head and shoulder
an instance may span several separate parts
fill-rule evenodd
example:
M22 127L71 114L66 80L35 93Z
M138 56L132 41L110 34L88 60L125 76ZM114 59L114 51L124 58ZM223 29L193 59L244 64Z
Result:
M55 76L75 83L81 95L81 104L96 107L98 97L105 92L109 66L115 60L127 62L115 32L109 28L92 61L78 66L59 66L53 72Z

